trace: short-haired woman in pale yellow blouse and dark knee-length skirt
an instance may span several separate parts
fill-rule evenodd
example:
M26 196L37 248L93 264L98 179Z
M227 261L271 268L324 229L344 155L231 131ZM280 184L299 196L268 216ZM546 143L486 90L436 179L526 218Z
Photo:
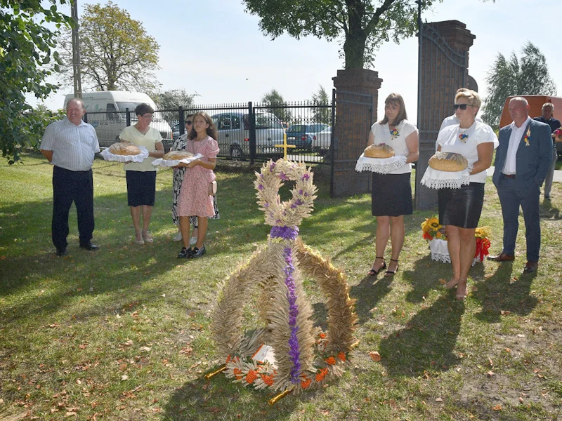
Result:
M156 196L157 168L152 165L152 161L164 156L164 145L160 132L150 127L154 109L148 104L140 104L135 108L135 114L136 124L124 128L119 140L148 149L148 157L143 162L127 162L123 167L127 181L127 203L131 208L131 218L135 227L135 242L144 244L153 241L148 227Z

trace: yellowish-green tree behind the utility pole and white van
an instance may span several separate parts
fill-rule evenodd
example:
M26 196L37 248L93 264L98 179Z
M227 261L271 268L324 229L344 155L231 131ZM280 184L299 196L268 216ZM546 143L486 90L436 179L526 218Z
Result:
M79 20L80 66L84 91L140 91L158 88L159 45L138 20L112 1L88 4ZM60 37L61 56L67 63L62 81L72 84L72 34Z

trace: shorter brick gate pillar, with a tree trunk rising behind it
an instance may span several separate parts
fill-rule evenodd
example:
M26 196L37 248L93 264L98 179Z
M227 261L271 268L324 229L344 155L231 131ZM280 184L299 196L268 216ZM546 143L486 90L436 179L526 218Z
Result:
M355 171L355 163L367 147L369 131L377 120L377 101L382 79L367 69L338 70L336 123L332 145L332 197L370 192L371 174Z

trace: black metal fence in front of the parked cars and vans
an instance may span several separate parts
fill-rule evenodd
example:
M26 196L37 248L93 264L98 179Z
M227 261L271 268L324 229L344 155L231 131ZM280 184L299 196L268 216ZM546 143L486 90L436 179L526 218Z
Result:
M289 159L308 163L329 163L334 126L332 102L288 102L283 105L224 104L197 105L190 108L162 109L155 112L150 126L162 135L164 148L185 135L186 117L204 111L218 130L219 157L264 161L283 155L287 138ZM136 123L133 110L88 112L84 121L96 128L101 147L119 139L126 126Z

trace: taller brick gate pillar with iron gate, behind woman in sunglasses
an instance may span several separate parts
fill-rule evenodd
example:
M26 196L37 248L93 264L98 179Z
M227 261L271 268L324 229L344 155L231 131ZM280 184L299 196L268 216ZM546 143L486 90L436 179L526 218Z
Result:
M458 20L426 23L424 27L418 79L419 159L414 196L417 209L437 206L437 190L428 189L419 181L435 153L441 122L453 114L457 89L469 87L469 48L476 38ZM460 62L463 64L459 65Z

